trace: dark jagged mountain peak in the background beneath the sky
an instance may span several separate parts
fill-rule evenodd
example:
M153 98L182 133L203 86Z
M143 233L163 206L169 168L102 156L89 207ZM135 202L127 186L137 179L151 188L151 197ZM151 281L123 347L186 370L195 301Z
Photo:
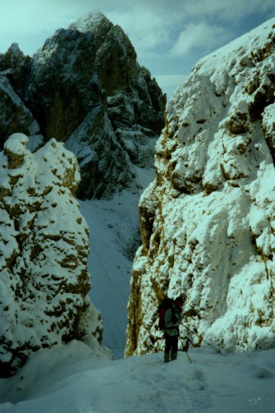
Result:
M0 70L2 145L14 131L38 146L41 135L66 142L80 164L80 198L109 197L135 185L134 165L152 166L140 153L153 159L165 96L103 14L57 30L33 58L12 45L0 55Z

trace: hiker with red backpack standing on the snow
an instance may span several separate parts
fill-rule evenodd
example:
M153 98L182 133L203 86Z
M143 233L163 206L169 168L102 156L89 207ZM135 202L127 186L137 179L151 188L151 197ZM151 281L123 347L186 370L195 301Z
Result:
M182 319L181 308L184 304L182 297L177 297L173 302L171 308L166 310L164 315L164 363L168 363L170 360L177 359L177 346L179 338L179 324Z

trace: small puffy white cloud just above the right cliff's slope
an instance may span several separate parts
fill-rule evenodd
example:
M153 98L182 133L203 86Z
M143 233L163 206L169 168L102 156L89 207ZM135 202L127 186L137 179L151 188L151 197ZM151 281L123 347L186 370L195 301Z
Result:
M223 44L230 39L225 28L210 25L205 22L191 23L179 33L179 37L170 50L172 56L183 56L193 47L210 50L214 46Z

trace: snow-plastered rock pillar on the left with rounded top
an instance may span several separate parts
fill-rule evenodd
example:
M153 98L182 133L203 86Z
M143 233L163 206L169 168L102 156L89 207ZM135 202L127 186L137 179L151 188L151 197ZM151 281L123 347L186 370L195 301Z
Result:
M27 143L13 134L0 153L1 377L30 352L71 339L98 345L102 332L87 297L89 230L74 197L76 157L54 139L36 153Z

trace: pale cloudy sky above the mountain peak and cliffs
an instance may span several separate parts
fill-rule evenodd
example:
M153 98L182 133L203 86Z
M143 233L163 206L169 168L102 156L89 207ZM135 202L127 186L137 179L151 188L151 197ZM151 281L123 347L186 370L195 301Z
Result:
M274 0L0 0L0 52L32 55L89 11L119 24L168 96L197 60L275 17Z

